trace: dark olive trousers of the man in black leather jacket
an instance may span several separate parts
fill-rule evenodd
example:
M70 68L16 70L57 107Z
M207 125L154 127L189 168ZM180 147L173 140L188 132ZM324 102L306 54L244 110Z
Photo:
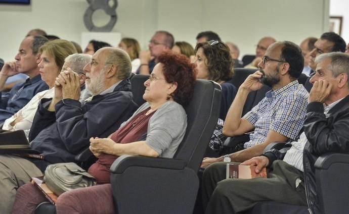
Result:
M303 173L283 161L275 161L268 178L226 179L226 163L209 166L202 178L205 213L238 213L258 201L307 205ZM296 187L296 180L301 182ZM298 179L298 180L299 180Z

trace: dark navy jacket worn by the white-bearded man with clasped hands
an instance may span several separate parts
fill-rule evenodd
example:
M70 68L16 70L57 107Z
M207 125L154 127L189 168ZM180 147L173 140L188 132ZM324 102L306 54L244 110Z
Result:
M33 161L41 170L50 163L74 162L76 154L90 145L91 137L108 137L137 109L129 80L121 81L113 92L96 95L83 106L77 100L63 99L49 112L42 99L29 134L31 148L45 156Z

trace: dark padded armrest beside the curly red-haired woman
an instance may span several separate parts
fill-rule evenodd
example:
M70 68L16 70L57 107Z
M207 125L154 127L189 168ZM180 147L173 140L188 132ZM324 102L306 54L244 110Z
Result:
M162 168L167 170L183 170L186 163L180 159L145 157L124 154L118 157L110 167L114 174L123 173L128 167Z

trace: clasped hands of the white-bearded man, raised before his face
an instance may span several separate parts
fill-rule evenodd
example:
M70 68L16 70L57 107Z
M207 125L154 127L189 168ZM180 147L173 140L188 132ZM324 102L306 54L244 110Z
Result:
M56 99L74 99L80 98L80 77L70 68L61 71L55 81Z

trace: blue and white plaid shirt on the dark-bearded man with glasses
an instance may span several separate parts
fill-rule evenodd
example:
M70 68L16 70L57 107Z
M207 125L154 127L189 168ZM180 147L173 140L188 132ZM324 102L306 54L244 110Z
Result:
M244 147L263 143L269 130L295 140L306 118L308 96L308 91L296 80L268 91L266 97L243 117L254 126L250 141Z

